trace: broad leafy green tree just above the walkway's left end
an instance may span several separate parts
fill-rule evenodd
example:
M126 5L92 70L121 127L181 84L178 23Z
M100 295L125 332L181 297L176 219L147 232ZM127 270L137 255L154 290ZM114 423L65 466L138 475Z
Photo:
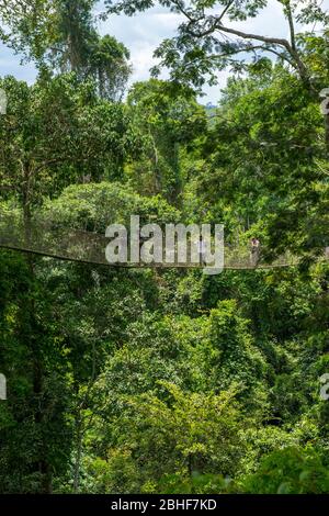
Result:
M100 100L93 83L75 75L43 77L32 87L9 77L0 85L9 99L0 120L1 188L4 197L15 191L26 220L43 195L121 176L134 147L123 105Z

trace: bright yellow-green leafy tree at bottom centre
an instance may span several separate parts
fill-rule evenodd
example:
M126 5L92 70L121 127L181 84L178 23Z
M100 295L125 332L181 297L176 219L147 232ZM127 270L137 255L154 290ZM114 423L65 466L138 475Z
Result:
M164 400L151 392L122 397L121 414L107 427L113 440L102 468L100 460L88 461L97 492L158 492L171 476L179 483L196 472L230 475L238 470L245 444L237 431L234 392L214 395L183 392L169 382L163 386Z

